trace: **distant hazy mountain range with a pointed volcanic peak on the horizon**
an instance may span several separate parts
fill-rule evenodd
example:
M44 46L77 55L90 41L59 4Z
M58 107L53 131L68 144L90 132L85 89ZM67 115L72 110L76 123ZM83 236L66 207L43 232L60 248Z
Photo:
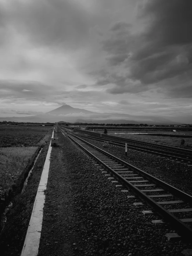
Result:
M132 116L122 113L97 113L63 105L57 109L30 117L1 117L0 121L15 122L71 122L71 123L147 123L154 125L182 124L160 116ZM190 122L190 120L189 120Z

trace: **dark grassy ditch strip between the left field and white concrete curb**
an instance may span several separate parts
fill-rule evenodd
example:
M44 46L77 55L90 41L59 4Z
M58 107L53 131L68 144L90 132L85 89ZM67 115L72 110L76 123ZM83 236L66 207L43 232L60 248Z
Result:
M8 197L9 200L5 200L5 207L9 205L10 202L12 202L12 205L10 205L10 209L6 214L7 220L0 233L2 256L19 256L21 253L48 148L49 143L46 143L42 148L41 154L36 161L32 173L30 173L30 176L28 177L27 186L23 193L21 193L21 191L23 189L24 182L26 181L29 171L33 167L33 163L40 152L41 147L35 152L35 155L30 159L25 172L21 174L17 183L11 189Z

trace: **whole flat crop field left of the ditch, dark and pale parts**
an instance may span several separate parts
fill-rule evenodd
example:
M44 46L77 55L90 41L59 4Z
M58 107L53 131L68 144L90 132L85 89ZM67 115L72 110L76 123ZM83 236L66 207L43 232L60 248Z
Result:
M38 147L49 142L53 127L0 127L0 198L7 195Z

